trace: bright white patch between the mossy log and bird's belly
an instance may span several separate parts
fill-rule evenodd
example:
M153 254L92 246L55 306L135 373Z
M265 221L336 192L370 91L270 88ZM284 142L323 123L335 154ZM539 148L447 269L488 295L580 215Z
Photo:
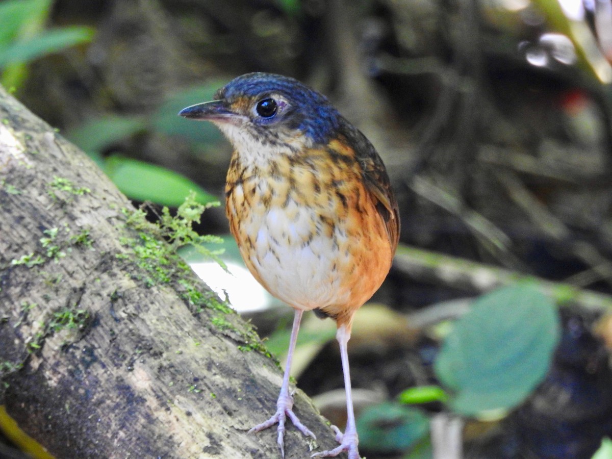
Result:
M237 312L256 311L271 304L272 296L244 266L227 263L230 274L214 262L193 263L190 266L221 299L225 298L227 292L230 303Z

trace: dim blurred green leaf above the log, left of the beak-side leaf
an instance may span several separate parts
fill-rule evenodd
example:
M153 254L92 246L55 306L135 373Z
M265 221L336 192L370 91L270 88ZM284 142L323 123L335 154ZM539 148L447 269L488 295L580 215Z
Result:
M66 133L66 137L86 152L102 152L106 147L146 129L142 116L109 115L94 119Z

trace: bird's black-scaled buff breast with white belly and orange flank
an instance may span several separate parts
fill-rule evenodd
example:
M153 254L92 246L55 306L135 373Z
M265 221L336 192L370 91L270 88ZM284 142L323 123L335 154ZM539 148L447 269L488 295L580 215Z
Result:
M389 271L389 237L350 149L288 152L258 165L234 153L226 199L248 269L294 308L321 308L340 325Z

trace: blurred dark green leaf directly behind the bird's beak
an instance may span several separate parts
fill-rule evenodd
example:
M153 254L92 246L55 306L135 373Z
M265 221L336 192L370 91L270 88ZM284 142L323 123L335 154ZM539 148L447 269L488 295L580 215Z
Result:
M222 135L212 123L184 119L177 114L189 105L214 99L217 89L225 83L211 81L172 95L152 114L151 122L154 129L166 135L182 136L193 142L217 143Z

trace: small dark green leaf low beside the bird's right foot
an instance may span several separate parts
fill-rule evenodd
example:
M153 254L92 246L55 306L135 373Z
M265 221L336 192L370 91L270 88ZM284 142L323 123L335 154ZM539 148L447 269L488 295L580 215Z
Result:
M429 419L418 409L385 402L357 417L359 446L377 453L404 451L429 432Z

